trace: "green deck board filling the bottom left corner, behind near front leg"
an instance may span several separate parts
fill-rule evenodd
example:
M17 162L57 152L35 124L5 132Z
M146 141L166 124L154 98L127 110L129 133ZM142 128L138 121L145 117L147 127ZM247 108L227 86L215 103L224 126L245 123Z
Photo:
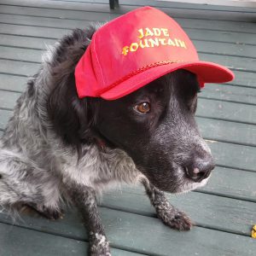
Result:
M85 241L0 223L0 254L4 256L87 255L87 249L88 242ZM115 248L111 252L116 256L143 255Z

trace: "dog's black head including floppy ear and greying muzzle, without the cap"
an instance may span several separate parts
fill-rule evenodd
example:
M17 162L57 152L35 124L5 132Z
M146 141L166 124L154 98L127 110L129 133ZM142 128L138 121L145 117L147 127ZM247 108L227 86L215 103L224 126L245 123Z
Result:
M177 70L118 100L79 99L71 73L51 92L48 111L67 143L96 138L121 148L157 188L177 193L207 183L214 167L195 123L199 90L195 74Z

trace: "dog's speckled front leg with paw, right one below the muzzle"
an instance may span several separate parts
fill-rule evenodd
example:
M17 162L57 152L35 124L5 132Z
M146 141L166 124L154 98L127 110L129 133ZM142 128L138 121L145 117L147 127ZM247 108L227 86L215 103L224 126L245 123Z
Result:
M173 207L166 199L163 191L156 189L154 185L143 179L143 186L146 189L147 195L151 204L155 208L157 217L172 229L176 230L190 230L192 222L186 213L179 211Z

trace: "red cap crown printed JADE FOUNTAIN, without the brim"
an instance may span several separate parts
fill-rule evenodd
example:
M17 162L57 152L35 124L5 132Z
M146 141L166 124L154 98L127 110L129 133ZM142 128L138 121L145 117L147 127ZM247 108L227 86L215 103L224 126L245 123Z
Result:
M136 9L108 22L93 35L76 68L83 79L79 96L97 96L144 70L198 61L194 44L175 20L151 7ZM84 84L84 81L78 82Z

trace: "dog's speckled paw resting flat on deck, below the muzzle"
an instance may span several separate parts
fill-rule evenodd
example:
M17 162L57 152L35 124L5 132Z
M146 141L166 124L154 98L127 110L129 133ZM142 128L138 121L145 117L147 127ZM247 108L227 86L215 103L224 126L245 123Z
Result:
M186 213L180 212L168 202L156 208L157 217L175 230L191 230L193 223Z

